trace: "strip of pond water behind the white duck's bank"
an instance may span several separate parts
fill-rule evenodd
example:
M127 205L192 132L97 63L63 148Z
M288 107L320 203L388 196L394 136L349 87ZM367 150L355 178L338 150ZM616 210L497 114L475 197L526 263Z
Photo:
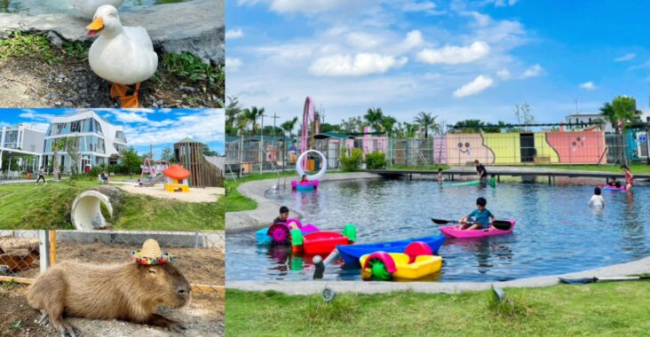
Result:
M128 12L134 7L155 4L175 4L190 0L125 0L120 12ZM47 13L75 14L77 11L69 0L0 0L0 13L20 13L38 15Z

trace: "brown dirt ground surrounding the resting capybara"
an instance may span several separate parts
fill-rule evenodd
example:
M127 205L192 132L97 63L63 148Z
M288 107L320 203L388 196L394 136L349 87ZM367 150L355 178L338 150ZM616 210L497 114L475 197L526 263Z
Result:
M59 240L57 261L77 260L83 263L126 263L135 244L105 245ZM174 263L193 284L223 286L225 282L224 251L218 248L163 247ZM38 269L15 273L20 278L36 278ZM0 336L56 336L51 326L36 325L38 312L29 307L25 297L27 286L0 285ZM180 310L159 309L165 317L186 325L185 336L224 335L225 301L218 293L193 292L192 302ZM172 333L147 325L122 321L99 321L69 318L83 336L171 336Z

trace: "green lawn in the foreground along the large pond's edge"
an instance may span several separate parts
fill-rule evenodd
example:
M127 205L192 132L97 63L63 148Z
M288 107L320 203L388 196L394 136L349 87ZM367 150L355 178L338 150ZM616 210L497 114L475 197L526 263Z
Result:
M324 286L324 284L323 284ZM491 292L319 295L227 290L233 336L647 335L650 282Z

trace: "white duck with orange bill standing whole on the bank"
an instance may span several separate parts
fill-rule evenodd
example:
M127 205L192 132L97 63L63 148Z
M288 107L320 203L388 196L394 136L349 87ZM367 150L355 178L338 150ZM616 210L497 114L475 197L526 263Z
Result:
M88 35L99 33L88 51L92 71L114 83L111 96L122 99L123 107L138 107L139 84L151 78L158 67L158 55L147 30L123 27L117 9L110 4L99 6L86 28ZM136 84L135 93L127 96L131 84ZM135 106L129 106L133 103Z

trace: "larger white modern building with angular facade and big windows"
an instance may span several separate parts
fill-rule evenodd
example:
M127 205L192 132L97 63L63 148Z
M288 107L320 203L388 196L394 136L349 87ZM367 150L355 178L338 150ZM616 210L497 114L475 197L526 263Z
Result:
M75 163L68 145L61 145L63 138L72 138L77 149ZM54 157L52 145L59 144L59 163L63 171L69 172L76 165L77 172L101 164L117 163L120 153L127 148L122 126L113 125L91 110L79 110L71 114L52 118L45 133L44 157L49 167Z

